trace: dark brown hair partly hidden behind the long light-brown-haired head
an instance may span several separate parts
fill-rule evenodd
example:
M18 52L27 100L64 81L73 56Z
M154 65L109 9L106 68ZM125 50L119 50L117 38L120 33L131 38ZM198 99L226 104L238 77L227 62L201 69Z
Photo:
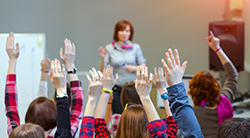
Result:
M123 109L125 108L126 103L136 103L141 104L141 100L139 95L135 89L135 82L126 82L121 91L121 104Z

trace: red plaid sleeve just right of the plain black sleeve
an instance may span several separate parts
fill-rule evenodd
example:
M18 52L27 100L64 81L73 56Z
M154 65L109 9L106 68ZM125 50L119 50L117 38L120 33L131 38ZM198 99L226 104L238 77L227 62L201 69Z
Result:
M71 81L71 111L70 111L70 126L71 126L71 135L75 136L78 127L79 121L83 116L82 107L83 107L83 89L80 81Z

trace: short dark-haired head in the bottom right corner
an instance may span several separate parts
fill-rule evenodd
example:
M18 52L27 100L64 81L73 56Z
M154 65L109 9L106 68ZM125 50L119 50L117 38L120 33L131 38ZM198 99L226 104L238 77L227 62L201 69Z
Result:
M218 129L217 138L249 138L250 121L232 118L224 121Z

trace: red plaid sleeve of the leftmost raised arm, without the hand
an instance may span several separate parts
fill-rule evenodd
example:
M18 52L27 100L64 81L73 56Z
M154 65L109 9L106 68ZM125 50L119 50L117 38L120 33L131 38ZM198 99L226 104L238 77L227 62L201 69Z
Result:
M16 74L7 75L4 103L8 125L7 132L8 135L10 135L10 133L20 125L20 119L17 109Z

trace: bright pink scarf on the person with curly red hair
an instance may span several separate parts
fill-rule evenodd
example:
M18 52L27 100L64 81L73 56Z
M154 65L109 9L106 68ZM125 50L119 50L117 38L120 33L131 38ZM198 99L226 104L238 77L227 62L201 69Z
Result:
M218 114L218 124L221 125L225 120L233 118L233 107L231 102L227 99L226 96L220 95L220 103L217 104L217 114ZM200 103L200 106L207 106L208 102L203 100Z

